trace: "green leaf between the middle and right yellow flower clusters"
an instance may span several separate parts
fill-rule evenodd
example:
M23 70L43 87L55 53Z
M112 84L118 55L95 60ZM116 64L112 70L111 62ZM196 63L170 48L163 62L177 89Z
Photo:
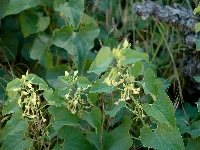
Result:
M109 86L108 84L104 83L105 78L108 76L106 73L103 75L100 79L96 80L94 84L91 86L90 92L92 93L112 93L114 90L116 90L116 87Z

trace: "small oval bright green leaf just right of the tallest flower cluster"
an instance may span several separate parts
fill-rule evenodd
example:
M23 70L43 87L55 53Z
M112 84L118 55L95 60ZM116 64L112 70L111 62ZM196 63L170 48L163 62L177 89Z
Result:
M130 74L134 77L137 77L141 72L143 72L144 66L141 61L135 62L131 67L130 67Z

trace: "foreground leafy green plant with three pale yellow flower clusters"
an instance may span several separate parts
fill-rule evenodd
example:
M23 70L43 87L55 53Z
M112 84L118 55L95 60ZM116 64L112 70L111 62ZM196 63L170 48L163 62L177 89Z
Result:
M7 86L3 115L11 118L2 148L124 150L133 145L131 128L140 122L140 136L134 138L143 146L184 149L165 82L146 67L148 61L148 54L125 41L113 50L100 49L89 69L101 75L95 82L66 71L53 91L36 75L16 78ZM19 144L9 145L15 138Z

